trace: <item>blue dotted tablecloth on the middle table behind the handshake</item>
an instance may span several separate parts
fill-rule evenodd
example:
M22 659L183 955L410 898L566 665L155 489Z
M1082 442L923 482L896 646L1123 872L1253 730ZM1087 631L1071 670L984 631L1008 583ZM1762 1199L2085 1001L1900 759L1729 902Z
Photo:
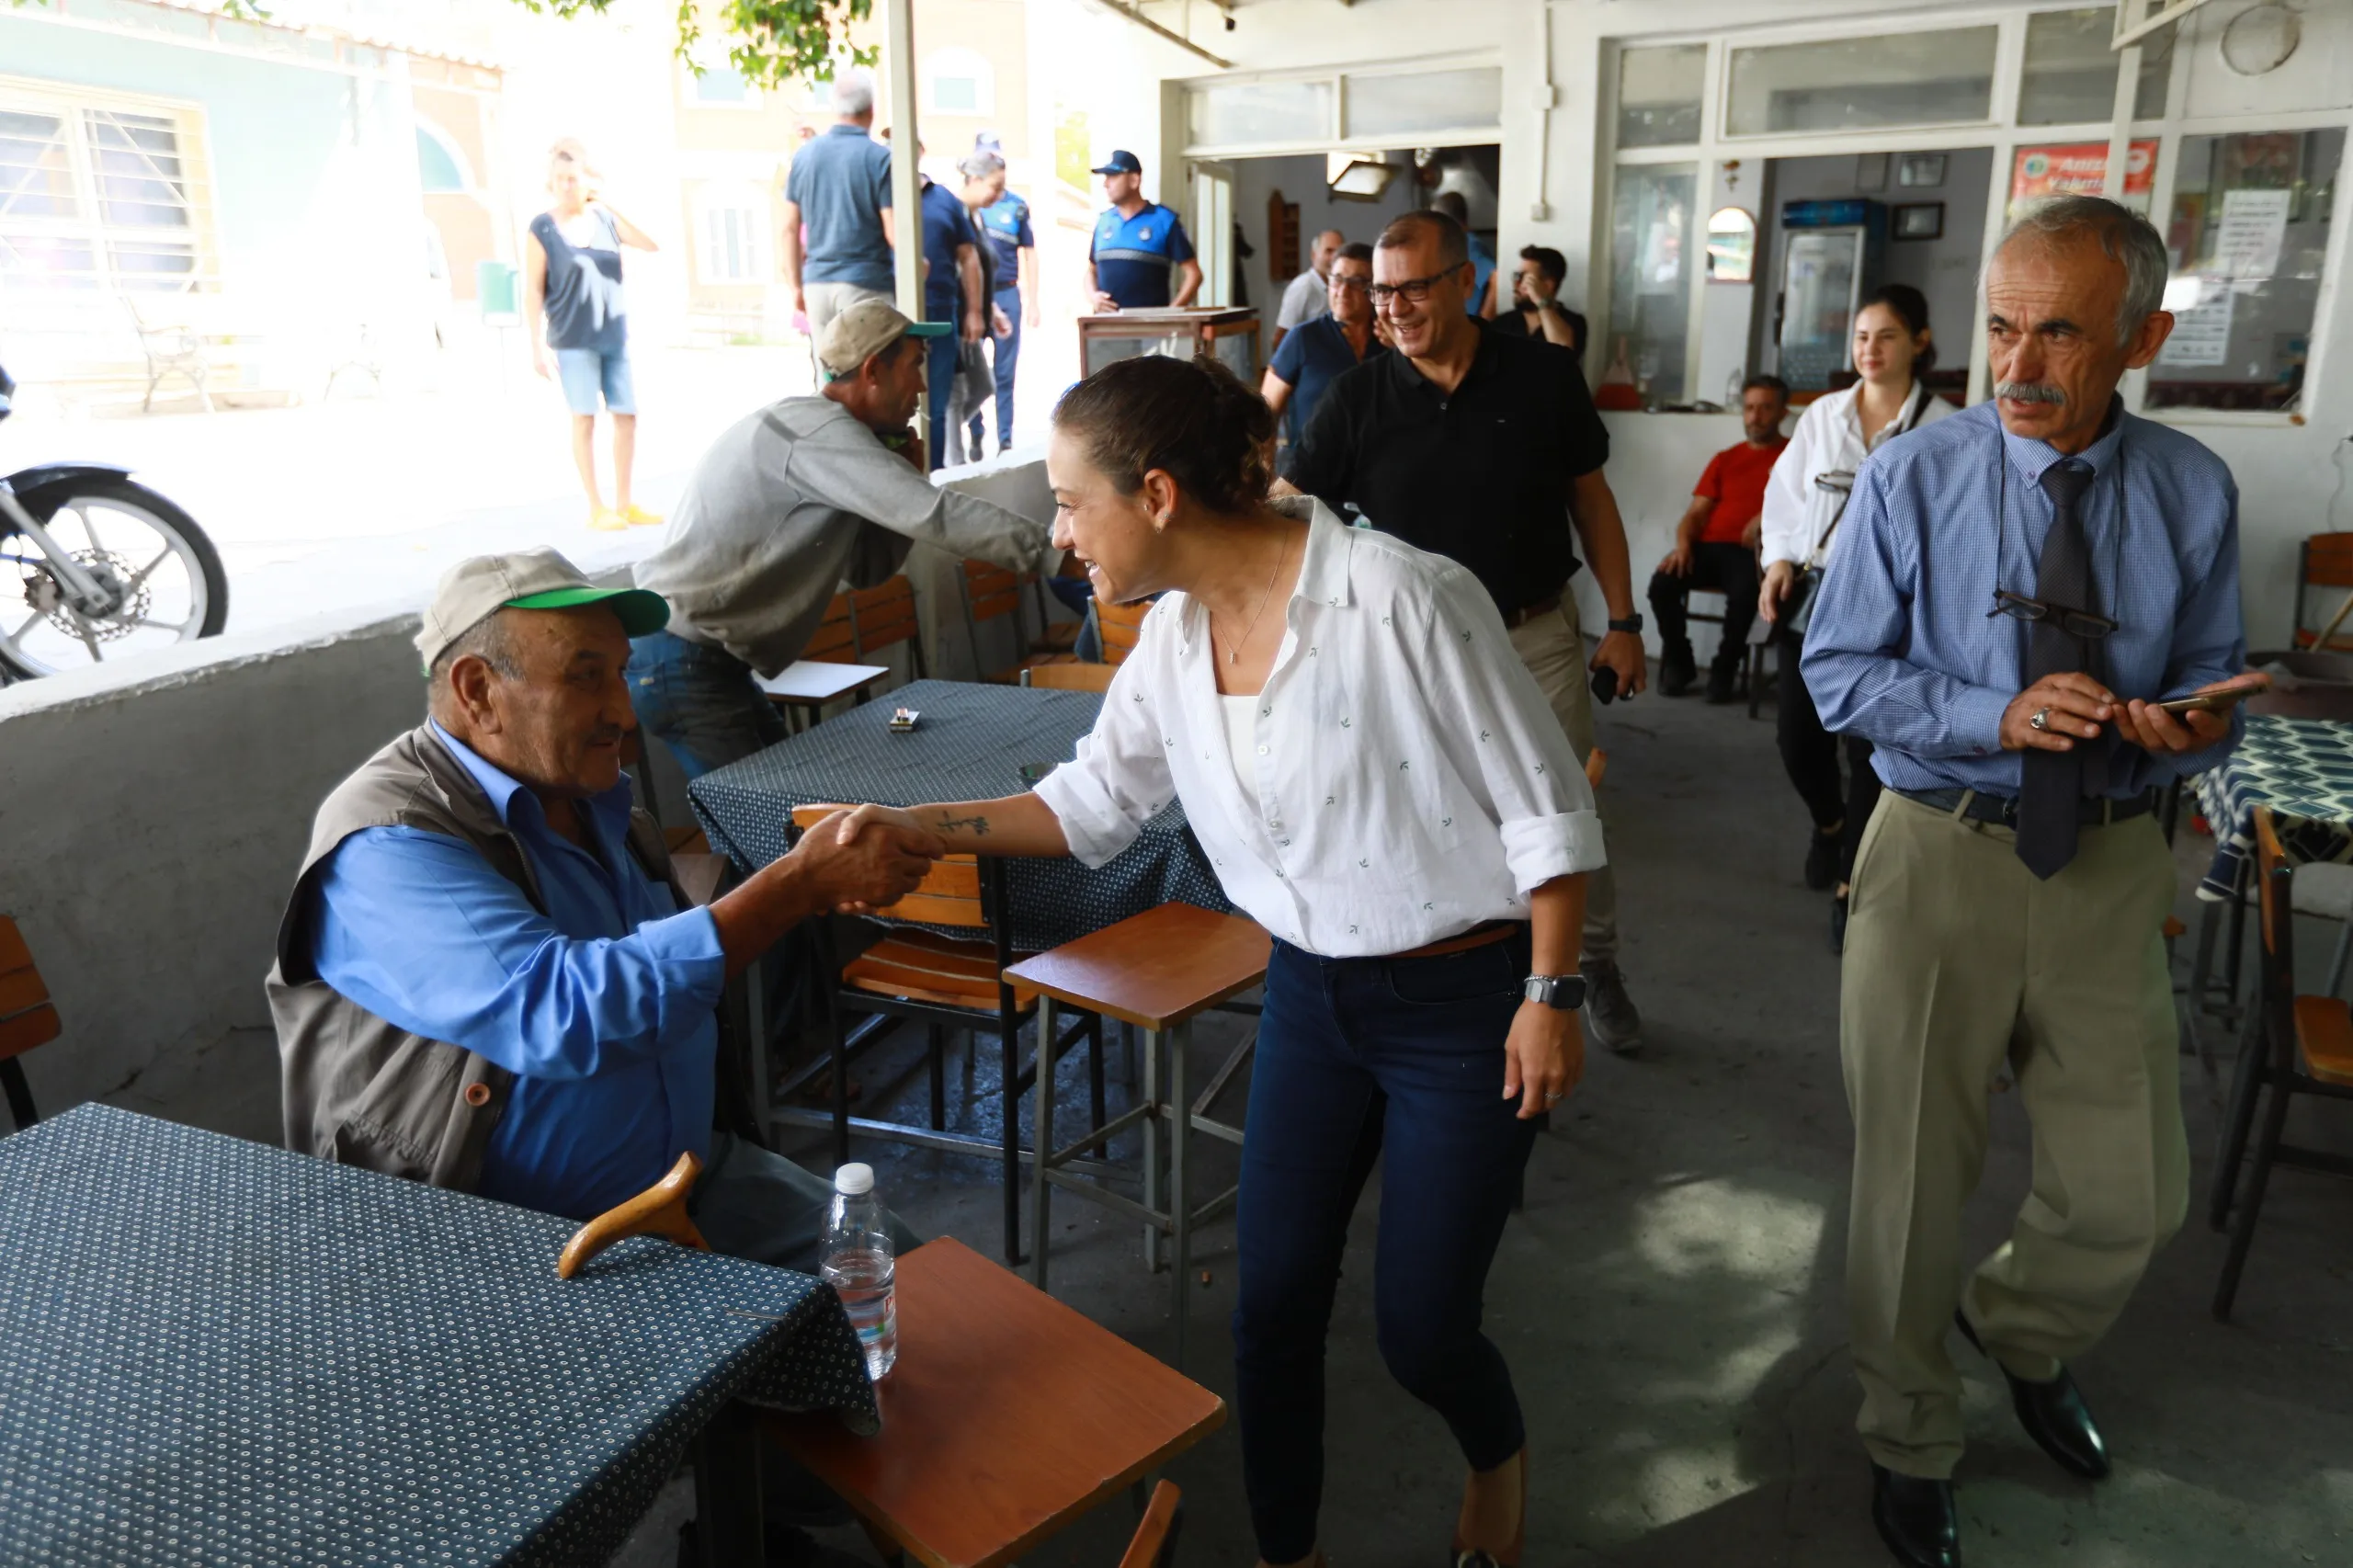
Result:
M1024 763L1052 768L1071 760L1101 706L1094 692L915 680L741 763L715 768L687 793L711 845L739 869L758 871L791 848L795 805L1016 796L1028 789ZM915 709L922 723L913 735L892 735L892 709ZM1075 859L1009 859L1005 881L1014 946L1031 954L1160 904L1233 909L1176 803L1096 871Z

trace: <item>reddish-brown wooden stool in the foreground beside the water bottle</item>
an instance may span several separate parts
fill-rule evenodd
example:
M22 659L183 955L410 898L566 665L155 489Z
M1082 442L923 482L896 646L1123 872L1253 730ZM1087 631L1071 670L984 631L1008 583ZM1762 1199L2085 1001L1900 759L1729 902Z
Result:
M899 1260L896 1309L880 1434L821 1413L760 1422L885 1561L1045 1561L1047 1540L1226 1422L1217 1394L948 1236ZM1120 1568L1169 1559L1176 1502L1167 1481L1153 1488Z

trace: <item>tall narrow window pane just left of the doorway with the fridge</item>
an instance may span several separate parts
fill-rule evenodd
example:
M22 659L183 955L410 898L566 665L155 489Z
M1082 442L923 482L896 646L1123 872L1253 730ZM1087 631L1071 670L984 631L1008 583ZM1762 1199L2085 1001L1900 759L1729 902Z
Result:
M1699 165L1628 165L1617 172L1609 214L1609 360L1602 381L1612 400L1631 386L1640 405L1682 403L1685 344L1692 332L1692 280L1699 275Z

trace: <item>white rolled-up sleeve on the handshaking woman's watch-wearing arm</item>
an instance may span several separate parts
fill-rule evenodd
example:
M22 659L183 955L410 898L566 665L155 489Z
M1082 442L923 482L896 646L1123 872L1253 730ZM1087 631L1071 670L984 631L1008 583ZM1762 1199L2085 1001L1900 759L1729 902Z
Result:
M1475 577L1449 567L1435 579L1433 607L1421 664L1435 711L1466 718L1449 749L1504 838L1513 883L1525 895L1558 876L1600 869L1609 855L1593 786L1511 647L1494 600Z

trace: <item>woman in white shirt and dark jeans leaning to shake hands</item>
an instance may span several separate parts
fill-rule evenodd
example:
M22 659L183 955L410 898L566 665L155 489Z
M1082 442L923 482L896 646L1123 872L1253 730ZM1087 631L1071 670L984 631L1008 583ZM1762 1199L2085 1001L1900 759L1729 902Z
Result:
M1104 864L1172 798L1275 937L1233 1314L1261 1563L1311 1563L1351 1158L1386 1095L1374 1281L1391 1373L1471 1476L1454 1556L1520 1561L1525 1427L1480 1290L1534 1118L1577 1083L1593 791L1478 579L1268 501L1273 414L1212 360L1134 358L1054 410L1054 539L1106 603L1160 593L1078 756L1035 793L861 808L953 852Z

